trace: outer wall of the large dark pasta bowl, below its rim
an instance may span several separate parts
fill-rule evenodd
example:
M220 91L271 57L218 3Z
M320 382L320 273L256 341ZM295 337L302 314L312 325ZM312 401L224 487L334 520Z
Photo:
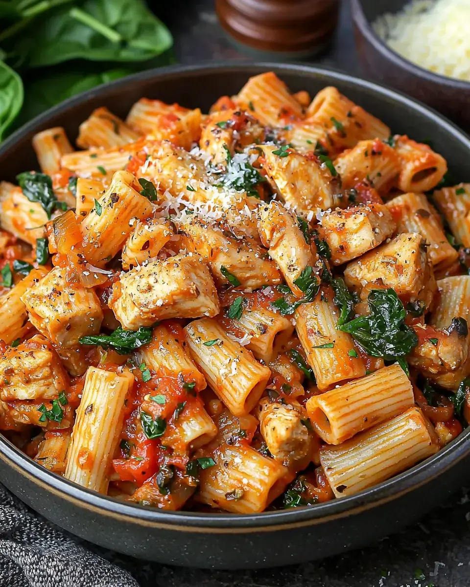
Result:
M298 564L361 548L412 524L456 487L470 458L431 483L391 498L379 507L361 508L351 515L320 519L293 528L217 533L155 528L135 519L96 513L38 487L0 460L2 482L21 500L55 524L81 538L123 554L151 561L198 568L247 569Z

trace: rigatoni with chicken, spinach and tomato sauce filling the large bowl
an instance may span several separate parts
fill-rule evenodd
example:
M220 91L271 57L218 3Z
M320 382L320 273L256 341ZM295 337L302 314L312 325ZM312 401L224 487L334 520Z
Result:
M272 72L36 134L0 183L0 431L167 511L314 507L435 454L470 414L470 184L390 135Z

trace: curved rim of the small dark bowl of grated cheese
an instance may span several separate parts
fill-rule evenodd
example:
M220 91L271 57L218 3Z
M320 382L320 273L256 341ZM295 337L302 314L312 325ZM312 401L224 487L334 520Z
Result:
M406 69L409 73L424 78L429 82L439 83L454 89L470 89L470 81L459 79L458 77L448 77L441 75L441 73L434 73L429 69L422 68L417 63L403 57L400 53L397 53L394 49L388 46L372 28L370 21L364 14L364 9L362 9L361 0L351 0L351 10L353 12L354 22L360 31L367 37L368 41L374 45L374 48L382 54L382 56L392 61L395 65L400 66L402 69Z

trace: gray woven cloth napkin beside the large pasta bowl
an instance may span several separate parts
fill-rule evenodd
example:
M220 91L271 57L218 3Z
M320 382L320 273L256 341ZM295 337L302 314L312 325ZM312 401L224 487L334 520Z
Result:
M0 587L139 587L0 485Z

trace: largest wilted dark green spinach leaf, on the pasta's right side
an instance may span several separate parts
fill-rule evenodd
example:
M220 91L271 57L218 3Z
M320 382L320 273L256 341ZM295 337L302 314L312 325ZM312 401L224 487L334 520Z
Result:
M339 326L352 335L372 357L398 360L418 344L418 336L405 325L405 308L394 289L372 289L367 298L370 313Z

